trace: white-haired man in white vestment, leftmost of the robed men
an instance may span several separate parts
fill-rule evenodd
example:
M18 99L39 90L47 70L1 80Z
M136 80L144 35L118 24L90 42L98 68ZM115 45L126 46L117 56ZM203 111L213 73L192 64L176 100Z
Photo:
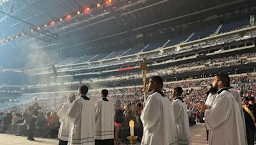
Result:
M74 93L68 94L68 101L64 104L60 111L58 111L58 116L60 118L60 130L58 134L58 139L60 139L59 145L67 145L68 144L68 135L72 125L67 118L67 111L72 106L72 102L76 99L76 95Z

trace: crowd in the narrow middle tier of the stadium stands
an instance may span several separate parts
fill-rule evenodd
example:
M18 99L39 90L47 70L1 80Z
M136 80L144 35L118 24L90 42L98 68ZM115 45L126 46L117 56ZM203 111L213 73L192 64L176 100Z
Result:
M242 57L246 57L246 60L241 60ZM148 71L148 76L160 75L166 76L170 74L179 74L189 71L201 71L204 69L214 69L219 67L237 66L239 64L250 64L256 62L256 59L250 59L256 57L256 53L244 53L236 56L222 57L211 60L201 60L197 62L189 62L186 64L180 64L179 66L165 67L164 69L154 69ZM86 79L84 83L106 82L106 81L120 81L125 79L138 79L141 78L141 72L124 72L124 74L118 74L115 76Z

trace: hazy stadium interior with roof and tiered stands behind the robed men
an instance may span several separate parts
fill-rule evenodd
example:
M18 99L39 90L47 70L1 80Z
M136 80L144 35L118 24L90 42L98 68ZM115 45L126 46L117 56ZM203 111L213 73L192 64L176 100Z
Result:
M56 111L82 84L135 104L143 58L189 107L220 73L256 97L255 14L253 0L0 1L0 111Z

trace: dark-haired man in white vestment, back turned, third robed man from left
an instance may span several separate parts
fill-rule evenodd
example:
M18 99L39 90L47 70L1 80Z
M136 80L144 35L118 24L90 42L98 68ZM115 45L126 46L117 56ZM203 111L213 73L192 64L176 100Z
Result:
M107 96L108 90L101 90L100 100L95 103L95 145L114 144L115 109Z

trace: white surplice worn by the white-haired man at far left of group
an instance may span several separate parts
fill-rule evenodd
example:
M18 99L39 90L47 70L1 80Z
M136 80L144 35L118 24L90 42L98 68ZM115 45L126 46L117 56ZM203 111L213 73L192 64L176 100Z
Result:
M72 103L67 102L64 104L60 111L58 111L58 116L60 118L60 130L58 134L58 139L62 141L68 141L68 135L70 132L70 128L72 126L72 122L70 122L67 118L67 111L72 106Z

